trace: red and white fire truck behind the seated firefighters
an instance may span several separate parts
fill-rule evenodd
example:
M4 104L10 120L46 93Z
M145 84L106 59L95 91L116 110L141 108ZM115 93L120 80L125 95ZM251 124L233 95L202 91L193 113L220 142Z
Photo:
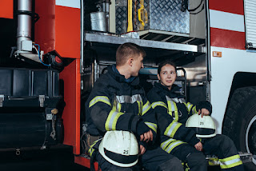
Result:
M147 54L142 84L155 81L158 62L174 61L186 100L210 101L217 133L254 168L255 7L253 0L2 0L0 149L70 145L74 161L89 168L86 97L118 46L134 42Z

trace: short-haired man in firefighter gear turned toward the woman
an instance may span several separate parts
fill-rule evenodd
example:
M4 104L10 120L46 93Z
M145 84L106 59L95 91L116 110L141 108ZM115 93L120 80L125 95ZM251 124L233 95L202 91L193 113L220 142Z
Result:
M134 43L124 43L118 47L116 65L108 66L108 72L98 78L86 101L88 124L86 131L90 136L102 136L103 140L107 131L132 132L138 137L139 162L145 169L182 171L182 163L177 157L166 153L159 145L154 145L157 132L156 118L144 90L138 84L137 77L138 71L143 68L142 60L145 56L145 51ZM111 140L113 140L113 145L109 143L111 147L107 143L101 144L101 140L95 141L90 146L90 155L96 158L100 168L102 170L138 169L136 165L131 166L135 163L134 158L126 155L126 151L122 155L118 152L119 149L114 149L112 152L107 150L121 143L117 138L111 137ZM99 153L98 149L106 155ZM133 151L136 154L136 150ZM129 166L126 167L127 165L124 164Z

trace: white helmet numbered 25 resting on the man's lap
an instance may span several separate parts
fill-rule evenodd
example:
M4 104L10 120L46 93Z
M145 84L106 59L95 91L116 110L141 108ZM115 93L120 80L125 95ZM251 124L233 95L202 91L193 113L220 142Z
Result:
M130 167L138 162L138 141L129 131L107 131L98 151L106 161L120 167Z

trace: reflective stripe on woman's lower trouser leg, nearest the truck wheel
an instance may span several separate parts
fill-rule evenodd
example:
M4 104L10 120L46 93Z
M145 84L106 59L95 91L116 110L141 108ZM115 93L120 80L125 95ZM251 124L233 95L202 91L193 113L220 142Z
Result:
M231 157L219 159L219 161L221 169L229 169L238 165L242 165L242 161L238 154Z

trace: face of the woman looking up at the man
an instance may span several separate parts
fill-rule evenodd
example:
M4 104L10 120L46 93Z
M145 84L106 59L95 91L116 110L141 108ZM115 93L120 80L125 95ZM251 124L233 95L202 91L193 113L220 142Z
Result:
M168 89L171 89L171 86L174 84L176 80L177 74L174 66L170 66L170 64L166 64L166 66L162 66L160 74L158 74L158 80L162 85L165 85Z

